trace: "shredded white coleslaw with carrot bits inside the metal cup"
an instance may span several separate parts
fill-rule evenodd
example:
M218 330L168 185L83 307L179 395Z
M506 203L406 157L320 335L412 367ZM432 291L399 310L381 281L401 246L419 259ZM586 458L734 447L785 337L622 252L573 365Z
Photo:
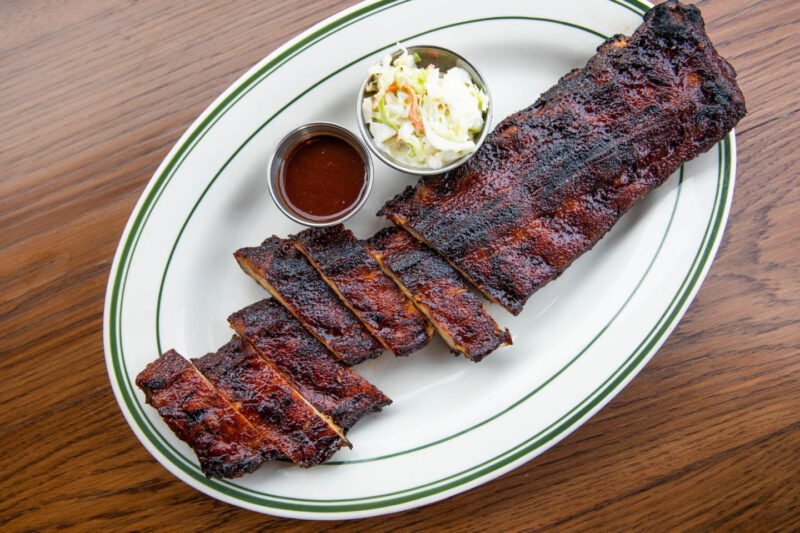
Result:
M489 98L464 69L442 74L419 61L403 49L372 66L361 112L381 150L408 166L436 169L476 150Z

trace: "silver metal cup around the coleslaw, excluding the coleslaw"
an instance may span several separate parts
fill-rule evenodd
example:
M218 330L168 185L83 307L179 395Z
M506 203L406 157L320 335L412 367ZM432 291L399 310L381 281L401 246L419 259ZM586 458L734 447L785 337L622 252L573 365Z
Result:
M486 135L489 133L490 124L492 121L492 97L486 80L469 61L452 50L448 50L440 46L430 45L408 46L405 48L398 48L392 52L392 61L394 62L395 59L400 57L404 50L407 51L409 55L416 54L419 57L417 65L421 66L421 68L424 68L427 65L433 65L439 69L441 74L445 74L453 67L459 67L465 70L471 78L472 83L477 86L478 89L483 91L483 93L485 93L487 98L487 108L485 111L483 111L483 126L479 131L473 133L471 138L472 142L475 144L475 150L477 151L477 149L480 148L481 144L483 144L483 141L486 139ZM373 74L368 74L364 78L364 82L361 84L361 88L358 91L358 100L356 102L356 122L358 123L358 129L361 132L361 136L363 137L365 144L378 159L390 167L402 172L417 175L431 175L442 174L452 170L462 165L475 153L475 151L466 153L454 161L448 162L447 164L437 168L432 168L420 163L410 164L407 161L398 159L389 153L389 151L383 149L380 146L380 143L376 141L375 137L373 137L372 133L370 132L369 123L371 121L374 122L374 120L372 120L371 117L366 117L363 111L364 99L376 94L375 91L368 91L368 86L370 85L373 76ZM421 134L424 132L424 129L419 131L419 134ZM413 147L409 146L409 149L413 150Z

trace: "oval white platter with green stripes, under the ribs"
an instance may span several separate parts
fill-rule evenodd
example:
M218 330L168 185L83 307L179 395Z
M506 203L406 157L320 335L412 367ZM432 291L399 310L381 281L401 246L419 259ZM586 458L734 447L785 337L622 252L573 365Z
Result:
M597 412L647 363L689 306L716 252L735 175L733 133L639 202L517 317L495 305L514 345L479 364L434 341L407 358L357 367L394 403L350 432L352 450L303 470L275 462L237 480L206 479L133 380L175 348L198 357L231 336L226 317L266 294L232 252L301 227L272 204L275 144L319 120L352 131L369 65L403 44L435 44L488 80L494 121L581 67L607 36L630 34L638 0L366 2L299 35L243 75L195 121L139 199L111 269L104 335L111 384L147 450L219 500L273 515L342 519L418 507L529 461ZM416 180L376 161L374 214Z

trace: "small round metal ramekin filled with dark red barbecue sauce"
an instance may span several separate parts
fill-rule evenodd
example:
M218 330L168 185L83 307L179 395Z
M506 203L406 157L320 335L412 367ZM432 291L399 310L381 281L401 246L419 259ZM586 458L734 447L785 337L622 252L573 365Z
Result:
M287 135L269 162L272 199L306 226L329 226L354 215L372 188L372 162L355 135L315 122Z

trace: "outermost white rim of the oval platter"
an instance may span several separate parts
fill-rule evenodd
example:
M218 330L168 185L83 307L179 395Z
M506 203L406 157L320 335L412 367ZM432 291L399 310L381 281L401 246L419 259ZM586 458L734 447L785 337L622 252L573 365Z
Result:
M731 131L728 136L726 136L722 141L719 143L719 150L720 150L720 163L719 163L719 178L720 184L718 184L718 188L721 188L722 191L718 191L715 195L715 202L717 201L716 198L719 198L719 206L712 209L711 216L710 216L710 223L709 229L713 226L713 234L710 238L708 238L708 234L704 236L701 244L698 248L697 256L695 258L695 262L689 269L689 274L684 280L684 284L686 283L689 278L692 278L689 282L688 286L682 286L678 292L676 293L673 302L671 302L664 314L662 315L661 319L667 314L670 314L670 318L662 325L660 331L656 335L655 338L651 339L650 347L648 350L642 353L641 357L637 358L634 364L629 365L628 361L623 363L623 365L615 370L609 379L613 378L617 373L622 370L623 375L622 379L617 381L613 384L612 387L609 387L605 391L602 391L601 394L598 394L592 401L594 403L591 404L590 408L582 411L580 416L577 418L570 419L568 424L562 425L558 428L558 432L551 437L545 444L534 447L532 450L525 451L523 450L520 453L517 453L515 456L512 456L508 461L503 463L500 466L492 466L490 465L491 470L486 471L479 471L478 473L473 473L467 476L465 480L457 480L455 486L445 486L445 488L436 487L434 489L429 489L428 491L422 491L421 494L412 494L411 496L406 496L401 498L403 501L396 501L396 500L379 500L374 503L368 504L361 504L361 505L345 505L345 506L338 506L341 507L341 510L334 510L328 508L328 506L324 506L323 510L319 509L319 506L313 506L311 508L304 508L309 506L298 506L295 505L287 505L282 506L280 502L272 502L274 505L265 505L264 503L256 503L256 502L248 502L241 499L239 497L231 497L228 494L221 493L219 491L219 487L214 487L210 484L203 484L198 486L196 483L192 482L192 476L190 479L187 480L183 474L181 474L181 469L177 468L177 465L174 464L167 464L167 461L162 460L164 459L161 454L154 453L151 447L152 444L143 434L141 434L141 427L139 424L132 420L132 413L130 412L130 408L126 408L127 400L121 398L122 391L118 388L119 384L116 382L114 370L116 368L116 361L113 357L113 352L115 351L115 346L112 345L112 339L114 338L115 332L111 328L111 322L113 320L112 311L115 309L116 305L116 297L117 291L119 289L119 281L121 273L120 266L121 263L125 260L125 255L127 253L128 245L130 244L131 232L134 231L135 227L139 226L142 223L142 216L144 214L143 208L147 208L148 206L152 207L155 205L155 201L153 201L154 197L153 194L156 192L156 188L160 185L161 179L164 177L164 172L168 171L173 166L176 166L176 156L179 158L181 154L183 154L183 149L188 146L187 143L191 143L192 140L195 139L196 135L206 126L210 128L213 126L213 122L209 121L212 118L213 114L218 113L222 110L226 104L230 103L231 96L234 96L239 90L242 90L246 87L249 83L252 83L255 78L258 77L258 74L262 71L262 69L267 68L273 62L279 62L290 50L294 49L295 47L303 45L303 43L309 43L309 46L313 46L316 42L318 37L325 36L326 32L332 28L340 26L341 24L351 20L354 17L358 17L361 14L365 14L366 16L370 16L376 12L380 12L383 9L388 9L395 5L406 3L409 0L379 0L379 1L367 1L356 4L351 8L346 10L340 11L331 17L326 18L325 20L319 22L318 24L312 26L308 30L300 33L298 36L293 38L292 40L285 43L283 46L279 47L267 57L262 59L252 68L250 68L245 74L243 74L239 79L237 79L233 84L231 84L219 97L217 97L204 111L203 113L189 126L186 132L181 136L181 138L175 143L172 147L170 152L164 158L164 160L159 165L158 169L155 171L153 176L148 181L147 186L145 187L144 191L142 192L141 196L139 197L129 219L125 226L125 229L122 233L120 238L115 256L114 261L112 263L107 289L106 289L106 296L105 296L105 308L104 308L104 317L103 317L103 333L104 333L104 348L105 348L105 356L106 356L106 365L107 371L109 375L109 380L111 381L112 388L114 390L115 398L117 403L120 405L120 409L125 416L125 419L129 426L134 430L137 438L145 445L145 448L154 456L162 465L167 467L167 469L173 473L176 477L184 481L185 483L189 484L190 486L201 490L202 492L222 501L226 501L228 503L232 503L234 505L238 505L241 507L248 508L250 510L265 512L269 514L274 514L278 516L285 516L285 517L292 517L292 518L313 518L313 519L342 519L348 517L364 517L364 516L375 516L378 514L385 514L390 512L397 512L403 509L418 507L421 505L425 505L427 503L431 503L433 501L438 501L449 497L453 494L458 492L462 492L468 490L476 485L485 483L494 479L503 473L517 467L519 464L523 462L527 462L528 460L532 459L533 457L543 453L545 450L549 449L549 447L555 445L561 439L569 435L574 429L579 427L586 419L591 417L597 411L599 411L605 404L607 404L611 399L613 399L616 394L625 387L625 385L633 379L633 377L638 374L642 367L653 357L655 352L658 348L663 344L666 338L669 336L671 331L677 325L680 318L685 313L688 306L691 304L694 296L699 290L700 285L702 284L703 279L705 278L711 263L713 262L714 256L716 255L716 251L719 247L722 235L724 233L724 228L727 222L728 214L730 211L731 199L733 195L733 189L735 184L735 170L736 170L736 142L735 142L735 132ZM647 9L649 6L646 4L638 1L638 0L609 0L611 3L622 5L630 9L631 11L635 11L637 14L641 15L642 13L632 9L631 6L640 7L640 9ZM629 4L629 5L628 5ZM360 19L356 19L360 20ZM299 52L298 52L299 53ZM278 65L280 66L280 65ZM277 67L276 67L277 68ZM269 70L267 68L267 70ZM234 102L235 104L235 102ZM224 114L224 112L223 112ZM220 115L221 116L221 115ZM188 154L188 152L186 152ZM724 157L723 157L724 154ZM179 165L179 163L177 163ZM723 169L726 169L726 172L723 172ZM168 183L168 181L167 181ZM162 188L165 189L167 183L164 183ZM151 203L152 202L152 203ZM712 224L713 222L713 224ZM144 224L141 225L144 227ZM706 241L706 238L708 240ZM136 237L138 240L138 236ZM697 266L697 259L700 258L701 254L703 258L700 262L699 268L695 268ZM129 256L128 262L132 258L132 255ZM122 265L123 269L125 265ZM672 307L673 303L676 300L680 300L677 307L675 307L672 312L670 312L670 308ZM659 319L656 327L661 322ZM651 331L652 333L652 331ZM650 337L648 333L646 339ZM634 353L638 351L634 351ZM633 356L633 355L632 355ZM606 382L607 383L607 382ZM606 383L598 387L594 392L597 390L602 389ZM586 399L592 397L594 392L589 395ZM586 400L584 399L584 400ZM595 401L597 400L597 401ZM578 405L580 406L583 404L581 401ZM569 413L568 413L569 414ZM566 416L566 415L565 415ZM560 420L562 420L562 417ZM545 430L546 431L546 430ZM524 443L523 443L524 444ZM157 445L156 445L157 447ZM514 446L517 448L518 446ZM512 448L512 450L514 449ZM508 452L506 452L508 453ZM504 454L500 454L503 456ZM496 456L494 458L489 459L479 465L473 466L469 470L473 470L476 468L480 468L481 466L485 465L486 463L490 463L493 460L497 459ZM184 474L186 472L184 471ZM456 477L459 474L455 474L450 476ZM205 480L205 478L203 478ZM196 480L195 480L196 481ZM432 485L441 482L442 480L438 480L436 482L429 483L427 485ZM239 487L240 488L240 487ZM206 490L208 489L208 490ZM414 489L408 489L406 491L399 491L400 493L403 492L410 492ZM430 492L433 491L433 492ZM371 498L380 498L381 495L378 496L370 496L366 498L358 498L357 500L364 500L364 499L371 499ZM280 498L280 497L277 497ZM324 500L312 500L312 501L324 501ZM377 511L377 512L376 512Z

